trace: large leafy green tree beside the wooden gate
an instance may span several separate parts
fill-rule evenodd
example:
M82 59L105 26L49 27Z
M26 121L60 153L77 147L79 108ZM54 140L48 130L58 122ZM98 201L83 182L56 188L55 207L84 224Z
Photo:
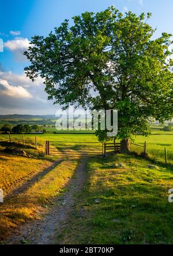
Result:
M25 68L44 78L48 99L90 109L117 109L122 150L137 132L149 134L148 121L172 117L171 35L153 39L155 29L142 13L123 15L114 7L65 20L46 38L34 36ZM106 132L97 132L106 139Z

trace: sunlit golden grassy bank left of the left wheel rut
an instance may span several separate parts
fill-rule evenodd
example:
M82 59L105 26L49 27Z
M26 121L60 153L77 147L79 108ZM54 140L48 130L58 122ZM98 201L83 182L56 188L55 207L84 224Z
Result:
M36 173L42 172L56 159L44 155L42 149L36 150L29 145L0 143L0 147L0 188L4 195L24 184ZM3 151L13 148L24 150L26 155L7 154Z

